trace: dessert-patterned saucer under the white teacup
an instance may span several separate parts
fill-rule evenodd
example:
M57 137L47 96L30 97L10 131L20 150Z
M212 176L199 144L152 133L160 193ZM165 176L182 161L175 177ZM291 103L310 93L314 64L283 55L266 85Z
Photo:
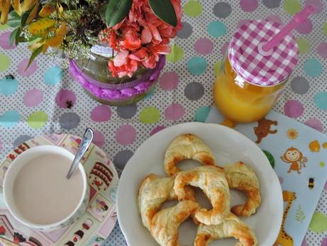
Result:
M0 164L0 244L29 246L99 246L108 237L117 221L115 199L118 174L107 156L92 144L81 163L88 175L90 202L85 214L70 227L53 232L38 232L21 225L9 213L2 196L4 175L11 162L28 148L36 145L58 145L76 153L81 138L53 134L21 143Z

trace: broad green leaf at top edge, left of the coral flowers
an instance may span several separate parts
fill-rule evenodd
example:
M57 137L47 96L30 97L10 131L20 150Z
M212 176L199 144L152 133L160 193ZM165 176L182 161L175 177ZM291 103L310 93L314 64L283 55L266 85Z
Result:
M105 7L105 22L107 26L113 27L123 21L130 12L132 0L110 0Z

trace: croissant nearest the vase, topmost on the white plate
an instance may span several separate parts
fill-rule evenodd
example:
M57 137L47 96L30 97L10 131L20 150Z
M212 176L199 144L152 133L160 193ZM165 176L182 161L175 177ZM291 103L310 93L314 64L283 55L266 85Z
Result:
M214 155L203 141L193 134L180 135L168 146L165 153L165 171L167 175L180 172L177 163L181 160L193 159L202 165L214 165Z

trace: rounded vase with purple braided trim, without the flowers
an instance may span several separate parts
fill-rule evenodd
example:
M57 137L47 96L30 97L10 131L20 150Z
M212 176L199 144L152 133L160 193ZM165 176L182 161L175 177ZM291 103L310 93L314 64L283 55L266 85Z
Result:
M155 68L139 68L132 78L118 78L111 76L108 70L110 56L111 50L95 46L88 56L71 61L70 70L74 80L81 84L91 98L111 106L128 105L142 100L152 91L165 66L165 56L160 56Z

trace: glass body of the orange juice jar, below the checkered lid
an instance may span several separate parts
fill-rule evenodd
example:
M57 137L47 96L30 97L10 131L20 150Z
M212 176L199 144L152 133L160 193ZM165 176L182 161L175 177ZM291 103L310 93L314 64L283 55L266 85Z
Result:
M258 121L269 113L287 81L288 78L274 86L249 83L234 71L225 56L214 83L214 102L230 121Z

